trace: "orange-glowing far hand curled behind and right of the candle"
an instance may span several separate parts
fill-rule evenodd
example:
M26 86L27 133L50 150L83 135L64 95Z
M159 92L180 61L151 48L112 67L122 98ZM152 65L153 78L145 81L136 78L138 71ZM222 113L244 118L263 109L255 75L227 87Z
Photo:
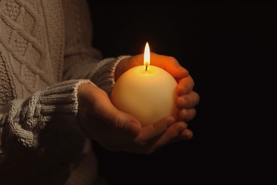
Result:
M126 70L137 65L143 65L143 54L121 60L116 67L115 80ZM178 97L176 98L175 104L179 109L178 121L188 123L188 121L195 117L195 106L200 100L199 95L192 90L195 83L189 75L188 70L183 68L175 58L161 56L156 53L151 53L151 65L156 65L168 71L177 81L176 94Z

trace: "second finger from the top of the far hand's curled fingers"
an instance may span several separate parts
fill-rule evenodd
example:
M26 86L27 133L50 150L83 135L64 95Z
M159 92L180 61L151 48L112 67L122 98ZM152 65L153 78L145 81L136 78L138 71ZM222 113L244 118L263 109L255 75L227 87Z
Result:
M194 80L190 75L188 75L186 78L182 78L178 82L178 85L176 87L176 94L178 96L188 95L188 93L192 91L194 85L195 85Z

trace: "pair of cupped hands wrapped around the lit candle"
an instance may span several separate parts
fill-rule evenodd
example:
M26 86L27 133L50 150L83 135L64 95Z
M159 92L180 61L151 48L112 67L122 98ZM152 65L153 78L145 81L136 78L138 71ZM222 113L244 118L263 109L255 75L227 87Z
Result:
M143 65L143 56L140 54L123 57L116 65L115 81L127 70ZM172 142L192 138L192 131L187 128L187 123L195 117L195 106L199 102L199 95L193 91L194 81L188 70L175 58L156 53L151 53L150 57L151 65L148 64L147 67L149 73L151 67L156 66L175 79L175 95L171 97L173 107L175 105L173 115L141 125L134 115L114 106L104 90L89 84L80 85L78 88L81 125L91 139L108 150L151 154ZM137 82L133 83L136 85Z

